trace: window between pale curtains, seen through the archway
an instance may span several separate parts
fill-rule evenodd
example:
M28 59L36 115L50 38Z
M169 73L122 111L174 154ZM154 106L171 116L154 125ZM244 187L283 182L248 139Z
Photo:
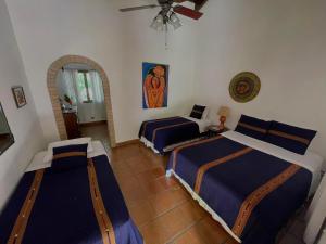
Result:
M89 73L85 70L79 70L77 78L77 89L82 101L84 103L92 103L92 84L90 82Z

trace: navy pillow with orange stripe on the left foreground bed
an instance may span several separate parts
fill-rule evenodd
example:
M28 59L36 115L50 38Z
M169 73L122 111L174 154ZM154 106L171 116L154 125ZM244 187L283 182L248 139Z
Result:
M75 167L87 166L87 145L65 145L53 147L51 167L54 170L66 170Z

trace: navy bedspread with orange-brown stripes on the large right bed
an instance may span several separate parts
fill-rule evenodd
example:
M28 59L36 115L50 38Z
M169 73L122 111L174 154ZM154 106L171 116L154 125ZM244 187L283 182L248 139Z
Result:
M272 244L304 203L312 174L222 136L177 147L173 170L244 244Z

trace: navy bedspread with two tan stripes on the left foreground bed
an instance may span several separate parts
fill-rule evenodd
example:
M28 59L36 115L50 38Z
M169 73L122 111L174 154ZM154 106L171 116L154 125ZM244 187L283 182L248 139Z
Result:
M141 244L142 237L102 155L84 167L25 174L0 216L0 243Z

